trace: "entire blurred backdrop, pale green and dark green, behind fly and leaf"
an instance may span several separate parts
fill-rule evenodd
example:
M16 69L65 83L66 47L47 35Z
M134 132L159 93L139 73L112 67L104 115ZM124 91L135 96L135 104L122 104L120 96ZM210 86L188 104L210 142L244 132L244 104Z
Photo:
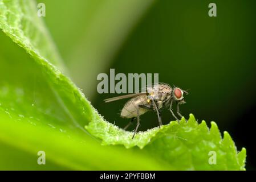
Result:
M217 17L208 16L212 1L40 2L72 80L107 121L128 123L119 117L125 101L105 104L116 95L97 93L99 73L159 73L161 82L190 89L182 114L228 130L255 169L253 129L242 127L255 125L255 1L214 1ZM155 113L141 119L140 130L157 126ZM164 123L172 119L163 113Z

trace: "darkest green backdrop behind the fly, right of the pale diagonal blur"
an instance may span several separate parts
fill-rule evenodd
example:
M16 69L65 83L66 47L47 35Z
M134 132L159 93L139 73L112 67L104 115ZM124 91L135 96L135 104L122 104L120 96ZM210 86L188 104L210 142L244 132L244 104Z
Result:
M212 2L212 1L211 1ZM117 73L159 73L160 82L190 89L181 105L210 126L228 131L238 150L246 147L246 169L256 169L255 1L214 1L217 17L208 16L210 1L157 1L137 23L109 68ZM96 75L95 75L96 78ZM109 122L119 117L127 100L105 104L115 94L98 94L92 105ZM141 117L140 130L157 126L155 113ZM163 122L173 120L169 111ZM130 129L135 127L133 125Z

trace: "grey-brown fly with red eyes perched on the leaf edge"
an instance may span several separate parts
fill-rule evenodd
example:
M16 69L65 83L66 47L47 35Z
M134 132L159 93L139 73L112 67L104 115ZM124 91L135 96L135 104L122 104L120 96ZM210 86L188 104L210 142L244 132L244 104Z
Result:
M132 122L137 118L137 126L132 137L134 138L135 134L137 133L137 129L140 125L140 115L147 113L147 111L156 112L159 120L159 127L162 125L161 111L164 108L168 108L172 113L173 117L177 121L179 121L179 119L173 113L172 105L173 105L173 102L176 102L177 104L176 112L178 116L182 118L179 105L186 103L184 101L184 96L183 96L184 93L188 94L188 92L176 86L173 86L172 88L168 84L159 83L147 88L147 92L133 93L133 94L127 94L124 96L107 98L104 101L112 102L112 101L117 101L124 98L131 98L124 105L123 109L121 110L120 116L122 118L131 118L131 121L128 123L128 125L124 127L124 130L126 130L132 124Z

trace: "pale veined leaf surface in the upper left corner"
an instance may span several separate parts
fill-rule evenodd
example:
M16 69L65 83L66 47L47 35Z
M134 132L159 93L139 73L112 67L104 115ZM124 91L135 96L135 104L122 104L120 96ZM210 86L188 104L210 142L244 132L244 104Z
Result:
M26 49L30 55L43 61L51 60L59 69L64 65L56 51L50 34L42 19L38 18L35 1L0 1L0 23L5 34L19 46Z

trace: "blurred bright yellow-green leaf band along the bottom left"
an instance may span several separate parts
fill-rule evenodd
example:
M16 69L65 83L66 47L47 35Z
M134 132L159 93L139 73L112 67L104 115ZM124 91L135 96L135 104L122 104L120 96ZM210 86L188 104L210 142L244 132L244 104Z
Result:
M40 123L43 121L38 122L36 118L18 119L14 113L3 114L1 111L0 141L4 143L4 147L0 144L0 148L6 150L6 145L14 147L13 155L17 156L22 151L25 158L24 154L18 160L10 156L6 158L6 154L13 153L13 150L7 150L1 155L0 169L167 169L151 160L147 154L120 147L101 146L88 135L78 135L70 129L56 125L43 125ZM46 152L45 166L36 163L38 151ZM139 163L134 165L135 161Z

